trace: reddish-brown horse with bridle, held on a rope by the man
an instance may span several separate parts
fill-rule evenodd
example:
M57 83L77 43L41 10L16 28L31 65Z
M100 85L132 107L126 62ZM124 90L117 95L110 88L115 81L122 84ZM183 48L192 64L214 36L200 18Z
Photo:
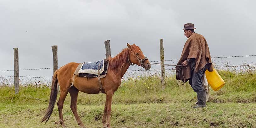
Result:
M146 70L150 69L151 65L148 59L144 56L141 49L135 44L129 45L127 43L127 47L123 49L121 53L116 55L114 58L109 57L109 69L106 77L101 78L103 93L106 94L106 103L104 108L104 114L102 118L102 123L104 128L110 128L110 114L111 114L111 104L112 97L114 92L118 89L121 84L121 79L125 75L125 72L129 68L131 64L137 64L139 66L144 67ZM59 121L62 126L65 127L62 108L64 100L68 93L70 93L71 104L70 108L75 115L75 119L81 127L85 127L82 123L79 115L76 110L76 102L78 92L84 92L88 94L97 94L100 90L100 85L98 82L98 78L83 78L74 75L74 72L79 63L69 63L62 66L60 69L55 71L53 75L52 87L51 87L51 95L49 106L46 111L45 116L42 119L43 121L48 121L52 112L53 107L55 105L57 99L57 84L60 88L60 97L58 100L58 112L59 112ZM74 75L74 78L73 78ZM73 79L72 79L73 78ZM74 86L71 87L73 83ZM107 122L107 123L106 123Z

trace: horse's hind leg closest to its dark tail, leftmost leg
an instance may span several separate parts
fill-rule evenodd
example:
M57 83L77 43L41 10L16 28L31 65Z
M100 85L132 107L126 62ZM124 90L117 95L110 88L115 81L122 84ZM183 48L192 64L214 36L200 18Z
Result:
M63 108L63 104L65 101L65 98L68 94L69 90L68 89L60 89L60 96L59 96L59 100L58 100L58 111L59 111L59 123L63 126L66 127L66 125L64 124L64 120L63 120L63 115L62 115L62 108Z

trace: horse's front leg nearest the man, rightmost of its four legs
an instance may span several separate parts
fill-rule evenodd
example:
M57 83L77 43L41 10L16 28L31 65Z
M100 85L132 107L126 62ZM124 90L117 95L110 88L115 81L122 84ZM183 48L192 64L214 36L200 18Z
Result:
M108 91L106 93L106 100L107 100L107 127L111 128L110 126L110 114L111 114L111 104L112 104L112 97L114 92Z

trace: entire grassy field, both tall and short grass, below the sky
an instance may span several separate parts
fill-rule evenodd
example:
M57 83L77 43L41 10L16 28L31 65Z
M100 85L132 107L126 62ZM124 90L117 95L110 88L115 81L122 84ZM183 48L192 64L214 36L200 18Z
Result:
M112 127L256 127L256 75L219 72L226 85L211 90L207 107L192 109L196 93L190 85L178 86L167 80L162 89L157 76L124 81L113 97ZM250 74L250 75L248 75ZM242 76L238 76L242 75ZM47 108L50 89L44 85L0 87L0 127L60 127L55 105L50 120L40 124ZM89 128L102 127L105 94L79 93L78 113ZM70 109L70 96L64 103L64 120L68 127L78 127Z

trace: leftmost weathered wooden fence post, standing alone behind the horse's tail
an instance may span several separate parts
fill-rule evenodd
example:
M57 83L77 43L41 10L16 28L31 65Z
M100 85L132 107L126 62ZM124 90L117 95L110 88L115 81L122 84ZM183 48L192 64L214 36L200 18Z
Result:
M15 94L19 93L19 49L13 48L14 51L14 87Z

